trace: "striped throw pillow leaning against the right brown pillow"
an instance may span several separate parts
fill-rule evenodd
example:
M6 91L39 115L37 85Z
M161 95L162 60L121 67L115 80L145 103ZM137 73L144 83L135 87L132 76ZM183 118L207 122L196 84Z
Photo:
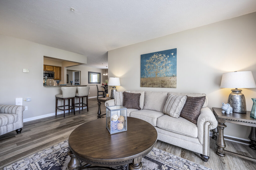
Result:
M163 112L172 117L178 118L180 115L180 112L183 109L184 104L186 103L186 99L187 99L187 96L170 95L167 98Z

